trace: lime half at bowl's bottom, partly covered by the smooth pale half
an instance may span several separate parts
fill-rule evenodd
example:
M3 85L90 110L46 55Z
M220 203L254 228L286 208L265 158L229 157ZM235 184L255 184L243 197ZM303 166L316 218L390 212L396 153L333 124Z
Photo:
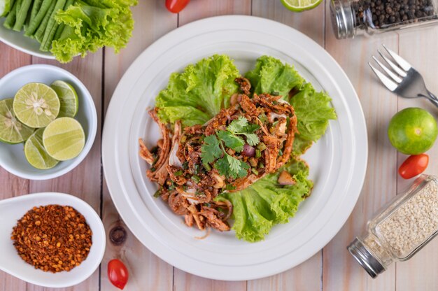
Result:
M44 129L37 129L34 134L24 143L24 155L27 162L36 169L52 169L59 161L50 157L43 146Z

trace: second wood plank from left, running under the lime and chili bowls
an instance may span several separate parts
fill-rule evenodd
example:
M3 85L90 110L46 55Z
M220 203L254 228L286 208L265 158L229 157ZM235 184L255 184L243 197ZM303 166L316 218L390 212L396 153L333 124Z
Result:
M72 194L80 199L87 201L97 213L100 213L101 201L101 166L100 166L100 143L101 143L101 96L102 96L102 52L99 50L95 54L88 55L85 59L76 57L69 64L59 64L56 61L48 61L34 57L34 64L52 64L60 66L70 71L78 77L92 94L94 105L97 109L97 135L85 160L76 169L66 173L66 175L45 181L31 181L30 192L64 192ZM80 105L79 105L80 106ZM99 269L83 283L61 290L98 290L99 289ZM49 290L34 285L28 285L27 290ZM50 289L52 290L52 289Z

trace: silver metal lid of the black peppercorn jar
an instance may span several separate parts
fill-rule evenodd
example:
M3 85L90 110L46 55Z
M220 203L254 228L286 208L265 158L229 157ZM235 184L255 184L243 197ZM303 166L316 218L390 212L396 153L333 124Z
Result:
M354 15L348 0L331 0L330 15L336 38L353 38L355 36Z

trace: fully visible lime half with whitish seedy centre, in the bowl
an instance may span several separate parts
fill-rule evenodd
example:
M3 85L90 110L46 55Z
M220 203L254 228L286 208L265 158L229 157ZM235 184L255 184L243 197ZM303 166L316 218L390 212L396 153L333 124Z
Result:
M59 98L55 90L41 83L24 85L14 99L14 112L18 120L28 127L46 127L57 118Z

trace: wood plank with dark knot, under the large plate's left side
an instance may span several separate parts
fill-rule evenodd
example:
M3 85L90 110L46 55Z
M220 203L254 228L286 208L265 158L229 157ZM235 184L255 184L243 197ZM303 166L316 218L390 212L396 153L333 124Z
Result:
M111 96L129 65L145 50L148 45L177 26L177 15L169 13L164 1L139 1L139 6L133 9L134 33L119 55L113 50L105 52L105 98L106 110ZM104 260L101 264L101 290L118 290L108 281L107 265L109 260L118 258L127 264L130 278L127 290L172 290L173 267L151 253L129 231L120 219L106 184L103 188L103 211L106 233L109 234L115 226L120 226L127 232L126 241L121 246L115 246L107 240Z

